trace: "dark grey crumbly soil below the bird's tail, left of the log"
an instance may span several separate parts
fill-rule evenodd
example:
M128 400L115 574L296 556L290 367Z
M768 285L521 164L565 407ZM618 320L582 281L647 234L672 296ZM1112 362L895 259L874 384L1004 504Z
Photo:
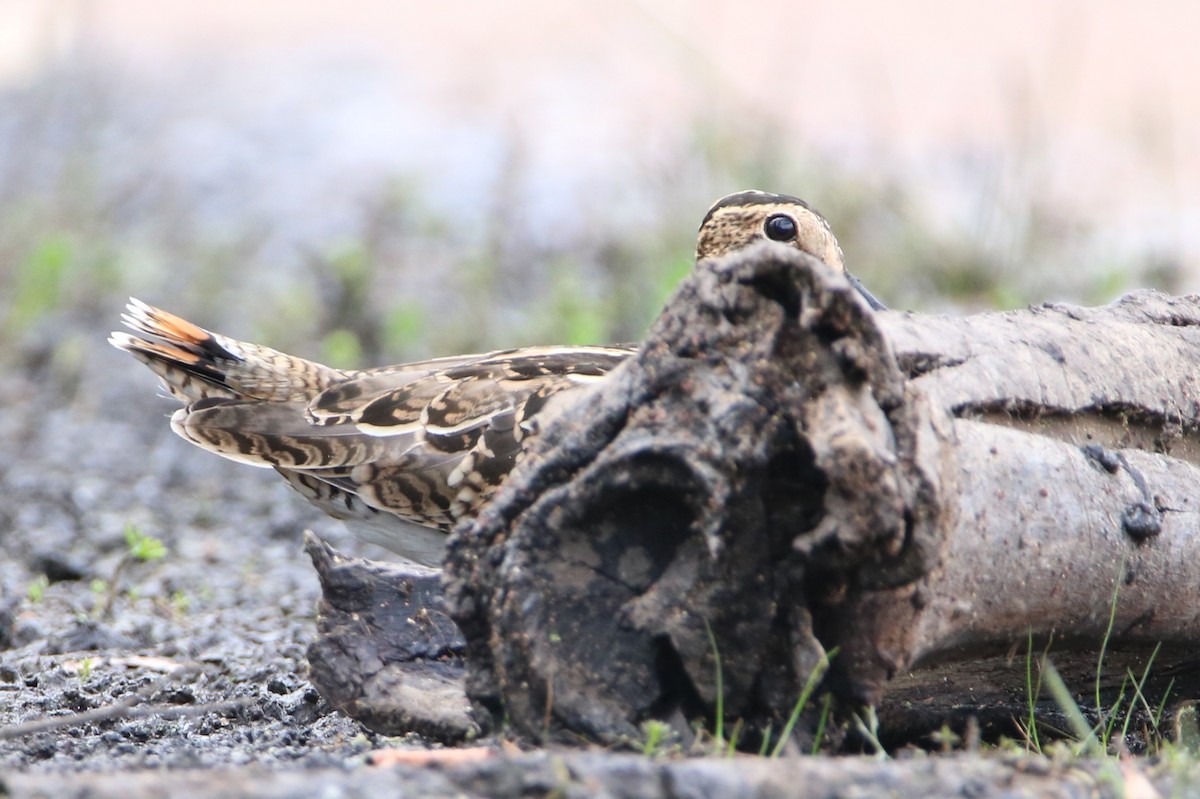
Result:
M306 677L319 587L300 540L356 543L274 473L176 438L152 377L96 350L79 382L0 385L0 735L122 702L181 715L0 739L0 769L360 763L380 741ZM106 612L127 524L167 554L127 564Z

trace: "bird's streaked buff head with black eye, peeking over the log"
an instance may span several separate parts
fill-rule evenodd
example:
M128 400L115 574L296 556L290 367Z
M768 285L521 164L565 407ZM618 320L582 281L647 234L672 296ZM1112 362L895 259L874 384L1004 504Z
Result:
M829 223L804 200L767 192L738 192L716 202L700 226L696 260L727 256L757 241L778 241L845 271Z

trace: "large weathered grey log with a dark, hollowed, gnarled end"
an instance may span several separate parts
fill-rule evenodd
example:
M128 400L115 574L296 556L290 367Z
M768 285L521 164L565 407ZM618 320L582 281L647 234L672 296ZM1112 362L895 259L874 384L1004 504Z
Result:
M1120 666L1163 642L1194 672L1198 323L1156 294L875 314L786 248L701 264L455 536L472 697L535 738L719 699L764 727L836 647L844 701L986 685L1007 717L1030 632L1091 689L1115 591Z

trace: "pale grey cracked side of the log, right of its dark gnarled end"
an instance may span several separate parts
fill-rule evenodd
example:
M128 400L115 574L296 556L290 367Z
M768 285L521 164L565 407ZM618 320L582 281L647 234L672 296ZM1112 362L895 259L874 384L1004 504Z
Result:
M961 717L955 703L996 726L1022 716L1031 632L1085 707L1098 674L1103 705L1158 644L1151 701L1200 693L1198 298L878 322L908 385L953 420L959 474L958 523L913 585L922 612L876 636L899 674L883 696L894 735ZM890 606L880 595L856 613L887 630ZM1058 713L1039 704L1051 723Z

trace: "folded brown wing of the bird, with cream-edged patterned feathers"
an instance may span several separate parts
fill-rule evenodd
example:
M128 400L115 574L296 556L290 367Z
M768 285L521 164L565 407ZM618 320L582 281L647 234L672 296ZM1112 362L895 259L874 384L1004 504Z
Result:
M307 404L205 400L176 411L172 427L218 455L277 468L323 507L353 497L448 529L508 476L547 409L557 413L631 352L493 353L450 359L449 368L416 379L414 365L389 367L331 386Z

